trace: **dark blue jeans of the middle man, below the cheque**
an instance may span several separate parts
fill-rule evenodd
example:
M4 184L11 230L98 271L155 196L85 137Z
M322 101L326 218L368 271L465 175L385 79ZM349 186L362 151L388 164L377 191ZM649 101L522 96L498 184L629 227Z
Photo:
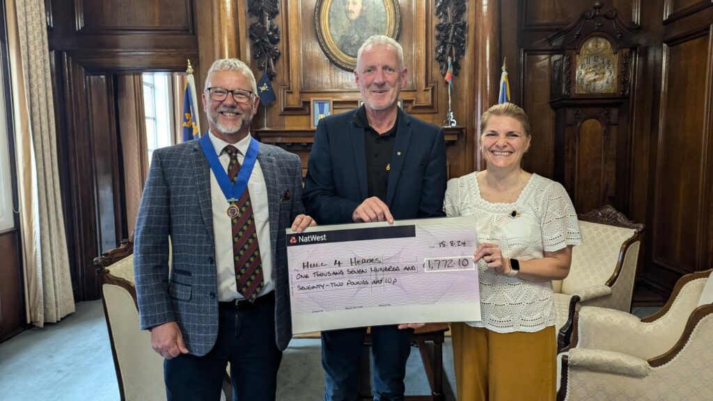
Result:
M374 358L374 401L404 400L406 360L411 353L414 330L395 325L371 327ZM366 328L322 332L324 401L354 401L359 395L361 347Z

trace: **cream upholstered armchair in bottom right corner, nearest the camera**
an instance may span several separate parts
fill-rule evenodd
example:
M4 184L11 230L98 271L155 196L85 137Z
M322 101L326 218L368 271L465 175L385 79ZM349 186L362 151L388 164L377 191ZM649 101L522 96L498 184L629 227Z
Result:
M558 400L713 400L712 271L684 275L641 320L583 307L559 355Z

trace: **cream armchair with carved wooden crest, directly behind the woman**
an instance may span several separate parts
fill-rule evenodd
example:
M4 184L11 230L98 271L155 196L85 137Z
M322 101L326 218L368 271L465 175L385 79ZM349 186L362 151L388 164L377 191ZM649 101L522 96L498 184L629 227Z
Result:
M628 312L634 290L643 224L610 205L579 215L582 244L572 250L570 273L553 281L555 329L560 349L568 345L575 310L600 306Z

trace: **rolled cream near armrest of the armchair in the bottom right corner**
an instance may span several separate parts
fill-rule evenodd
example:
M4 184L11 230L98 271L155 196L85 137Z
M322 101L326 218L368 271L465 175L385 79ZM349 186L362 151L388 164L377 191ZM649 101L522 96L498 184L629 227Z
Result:
M570 367L583 367L588 370L633 377L645 377L650 371L648 362L640 357L622 352L585 350L581 348L573 348L569 351L568 365Z

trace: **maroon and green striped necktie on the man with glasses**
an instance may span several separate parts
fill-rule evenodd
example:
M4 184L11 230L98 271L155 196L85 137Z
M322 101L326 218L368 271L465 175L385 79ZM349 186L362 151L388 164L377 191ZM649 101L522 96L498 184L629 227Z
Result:
M237 148L232 145L223 149L230 156L230 163L227 166L227 176L232 183L237 180L237 172L240 171L240 162L237 161ZM240 199L235 202L238 210L237 215L232 217L232 253L235 261L235 283L237 291L246 300L255 301L260 291L265 287L265 280L262 278L262 263L260 262L260 247L257 245L257 230L255 228L255 218L252 214L252 203L250 203L250 193L243 191Z

